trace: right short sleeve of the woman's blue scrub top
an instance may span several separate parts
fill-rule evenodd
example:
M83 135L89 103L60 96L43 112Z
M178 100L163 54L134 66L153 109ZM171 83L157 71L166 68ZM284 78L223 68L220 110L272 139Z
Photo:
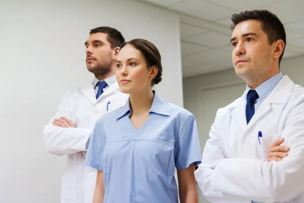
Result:
M179 127L174 150L175 167L181 170L195 163L201 163L201 147L196 119L193 114L188 114Z

